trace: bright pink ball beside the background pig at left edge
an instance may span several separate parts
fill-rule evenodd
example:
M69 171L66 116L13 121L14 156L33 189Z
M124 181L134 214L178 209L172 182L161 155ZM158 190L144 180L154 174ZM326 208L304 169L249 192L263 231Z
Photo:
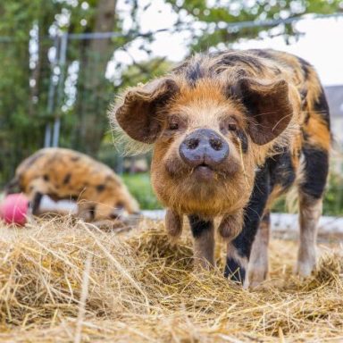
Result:
M24 225L29 209L29 200L23 194L10 194L0 204L0 218L8 224Z

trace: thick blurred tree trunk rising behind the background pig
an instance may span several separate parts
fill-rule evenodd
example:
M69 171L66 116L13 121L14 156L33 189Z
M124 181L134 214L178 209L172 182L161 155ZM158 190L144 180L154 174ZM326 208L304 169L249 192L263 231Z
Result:
M113 31L115 7L116 0L99 0L94 32ZM81 44L86 46L83 46L84 54L80 56L76 148L89 155L96 155L107 128L109 99L105 71L114 48L110 38L91 39Z

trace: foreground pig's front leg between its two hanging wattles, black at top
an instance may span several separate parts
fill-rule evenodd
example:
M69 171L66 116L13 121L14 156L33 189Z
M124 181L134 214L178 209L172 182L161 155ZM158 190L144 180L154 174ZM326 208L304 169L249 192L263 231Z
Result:
M209 269L214 265L213 220L204 220L197 215L189 215L188 220L194 238L195 269Z

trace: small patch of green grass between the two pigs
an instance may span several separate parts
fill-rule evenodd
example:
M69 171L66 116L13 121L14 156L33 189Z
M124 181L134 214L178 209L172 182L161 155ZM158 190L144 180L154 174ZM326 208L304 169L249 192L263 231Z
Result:
M155 210L163 208L155 197L151 187L148 172L138 174L123 174L121 176L133 197L136 197L142 210Z

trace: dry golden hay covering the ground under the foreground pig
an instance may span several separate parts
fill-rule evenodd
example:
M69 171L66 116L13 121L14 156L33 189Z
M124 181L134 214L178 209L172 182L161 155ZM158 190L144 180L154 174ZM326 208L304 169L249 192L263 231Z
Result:
M162 223L120 234L68 220L0 225L0 341L343 339L339 255L301 282L295 243L274 239L271 251L272 280L247 291L220 269L194 274L190 238L172 247Z

